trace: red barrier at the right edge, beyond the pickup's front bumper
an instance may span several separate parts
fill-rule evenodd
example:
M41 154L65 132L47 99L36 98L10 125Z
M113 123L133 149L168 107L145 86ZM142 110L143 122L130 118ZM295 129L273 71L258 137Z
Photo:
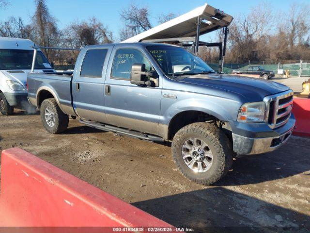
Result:
M296 136L310 137L310 99L294 98L293 113L296 118Z

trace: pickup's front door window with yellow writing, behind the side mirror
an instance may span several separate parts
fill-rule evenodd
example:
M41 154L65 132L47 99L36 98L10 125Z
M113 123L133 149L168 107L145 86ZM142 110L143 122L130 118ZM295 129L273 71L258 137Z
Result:
M152 69L149 60L136 49L119 49L113 61L112 78L130 79L131 67L135 63L145 64L147 71Z

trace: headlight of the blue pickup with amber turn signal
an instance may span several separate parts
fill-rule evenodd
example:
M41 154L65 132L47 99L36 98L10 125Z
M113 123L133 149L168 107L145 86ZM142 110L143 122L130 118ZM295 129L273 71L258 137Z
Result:
M265 112L264 102L246 103L240 108L237 120L245 123L264 122Z

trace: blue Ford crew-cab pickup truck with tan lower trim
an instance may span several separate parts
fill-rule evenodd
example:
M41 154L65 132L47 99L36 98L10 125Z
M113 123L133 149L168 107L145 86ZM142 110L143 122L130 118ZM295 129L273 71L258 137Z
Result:
M28 95L49 133L66 130L72 116L97 129L172 141L181 173L202 184L225 176L236 153L279 148L295 124L287 86L217 73L167 44L85 47L72 74L29 73Z

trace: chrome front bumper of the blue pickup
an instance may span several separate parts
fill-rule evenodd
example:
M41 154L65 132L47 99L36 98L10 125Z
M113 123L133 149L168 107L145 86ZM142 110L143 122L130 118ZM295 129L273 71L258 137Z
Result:
M261 154L282 146L293 133L294 116L282 127L276 129L277 136L249 138L233 133L233 151L238 154Z

